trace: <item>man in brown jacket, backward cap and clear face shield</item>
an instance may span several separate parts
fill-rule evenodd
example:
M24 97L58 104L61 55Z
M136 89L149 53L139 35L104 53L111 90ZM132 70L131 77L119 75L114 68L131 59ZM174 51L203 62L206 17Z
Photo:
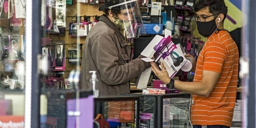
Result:
M99 11L104 14L85 41L80 88L92 89L89 71L96 71L99 95L130 93L129 80L150 67L140 59L143 56L130 61L130 46L120 32L127 38L145 34L137 0L105 0Z

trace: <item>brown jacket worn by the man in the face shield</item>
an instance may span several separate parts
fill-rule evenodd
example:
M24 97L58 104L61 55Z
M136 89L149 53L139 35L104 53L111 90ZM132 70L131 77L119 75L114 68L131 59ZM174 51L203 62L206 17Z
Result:
M80 88L91 89L89 80L96 71L99 95L130 93L129 80L137 77L150 63L130 59L130 46L111 20L102 15L89 31L83 51Z

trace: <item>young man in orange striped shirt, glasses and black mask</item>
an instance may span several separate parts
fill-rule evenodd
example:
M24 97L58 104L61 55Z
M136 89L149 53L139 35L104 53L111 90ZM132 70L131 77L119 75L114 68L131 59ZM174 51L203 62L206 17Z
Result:
M162 63L159 70L151 62L152 70L169 88L191 94L190 120L194 128L228 128L236 102L239 54L223 26L227 7L224 0L199 0L194 9L198 32L207 37L192 68L194 82L170 79ZM191 55L186 56L194 60Z

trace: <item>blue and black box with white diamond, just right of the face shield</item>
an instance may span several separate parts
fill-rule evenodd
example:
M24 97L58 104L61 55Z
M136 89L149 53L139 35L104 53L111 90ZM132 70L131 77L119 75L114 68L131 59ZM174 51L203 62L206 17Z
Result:
M162 19L161 15L143 15L142 21L146 34L162 34Z

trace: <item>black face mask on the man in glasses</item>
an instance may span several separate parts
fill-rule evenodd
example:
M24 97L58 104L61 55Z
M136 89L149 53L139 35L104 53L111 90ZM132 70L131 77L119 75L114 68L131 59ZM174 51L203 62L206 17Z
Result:
M209 37L216 29L215 18L209 22L197 22L197 30L203 37Z

